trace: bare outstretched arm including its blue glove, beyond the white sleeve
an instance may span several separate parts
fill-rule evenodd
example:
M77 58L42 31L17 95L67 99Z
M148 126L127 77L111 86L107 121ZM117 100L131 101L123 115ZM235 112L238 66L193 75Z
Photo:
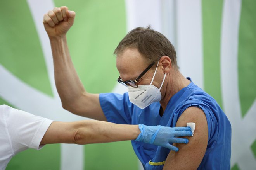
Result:
M178 148L170 145L170 143L187 143L187 139L176 137L191 135L192 132L189 127L126 125L95 120L52 122L41 141L41 145L49 143L105 143L136 139L136 141L177 151Z

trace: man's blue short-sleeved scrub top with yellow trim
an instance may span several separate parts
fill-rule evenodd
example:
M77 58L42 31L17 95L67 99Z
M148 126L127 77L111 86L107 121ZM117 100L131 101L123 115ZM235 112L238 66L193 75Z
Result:
M199 107L204 111L207 119L208 145L198 169L230 170L230 122L213 97L193 82L171 97L162 117L159 115L159 102L140 109L129 101L128 93L123 95L104 93L100 94L99 99L107 121L118 124L175 127L178 118L188 107ZM169 149L138 141L131 141L131 144L146 170L163 168L164 161L170 152Z

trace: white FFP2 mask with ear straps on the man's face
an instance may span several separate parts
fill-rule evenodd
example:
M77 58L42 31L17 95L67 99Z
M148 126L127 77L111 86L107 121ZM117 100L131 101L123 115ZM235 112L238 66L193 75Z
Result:
M159 61L157 63L157 66L158 64L159 64ZM157 66L156 66L156 70L157 70ZM144 109L145 107L149 106L153 102L159 102L162 99L160 90L164 83L166 73L164 74L163 82L160 88L158 89L156 86L152 85L152 82L156 75L156 70L150 82L150 85L138 85L138 88L127 86L130 102L137 105L140 109Z

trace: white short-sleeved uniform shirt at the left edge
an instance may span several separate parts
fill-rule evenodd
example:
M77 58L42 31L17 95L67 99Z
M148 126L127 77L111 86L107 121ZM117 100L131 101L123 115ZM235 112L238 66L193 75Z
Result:
M40 142L52 120L0 105L0 170L10 159L28 148L40 150Z

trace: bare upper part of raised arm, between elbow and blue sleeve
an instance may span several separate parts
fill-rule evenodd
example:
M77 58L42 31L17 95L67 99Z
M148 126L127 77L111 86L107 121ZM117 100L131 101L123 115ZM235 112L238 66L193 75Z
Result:
M76 101L63 105L64 109L79 116L107 121L100 106L99 94L84 93Z

